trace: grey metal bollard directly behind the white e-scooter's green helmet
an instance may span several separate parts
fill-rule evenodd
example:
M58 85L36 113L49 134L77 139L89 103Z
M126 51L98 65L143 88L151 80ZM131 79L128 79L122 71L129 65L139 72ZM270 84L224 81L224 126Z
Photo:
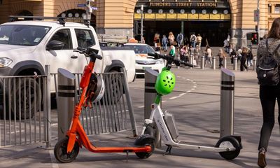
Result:
M146 69L145 71L145 95L144 95L144 119L151 116L151 104L155 102L157 91L155 90L155 82L157 81L158 72L153 69ZM161 148L161 139L158 128L155 129L155 146Z

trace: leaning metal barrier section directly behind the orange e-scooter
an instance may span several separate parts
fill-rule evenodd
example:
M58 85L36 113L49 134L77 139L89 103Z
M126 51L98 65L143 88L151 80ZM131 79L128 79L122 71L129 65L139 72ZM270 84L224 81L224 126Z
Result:
M52 73L57 83L57 74ZM80 83L80 73L75 73L76 86ZM92 106L83 108L80 122L87 135L104 134L132 130L137 135L134 112L124 72L100 73L105 83L104 97ZM57 90L57 87L56 87ZM82 90L78 90L81 93ZM76 103L80 95L77 94Z

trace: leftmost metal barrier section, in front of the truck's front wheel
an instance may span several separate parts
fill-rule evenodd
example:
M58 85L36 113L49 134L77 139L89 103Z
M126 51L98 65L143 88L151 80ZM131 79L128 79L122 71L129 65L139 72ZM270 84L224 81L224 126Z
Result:
M1 76L0 80L0 146L46 142L47 76Z

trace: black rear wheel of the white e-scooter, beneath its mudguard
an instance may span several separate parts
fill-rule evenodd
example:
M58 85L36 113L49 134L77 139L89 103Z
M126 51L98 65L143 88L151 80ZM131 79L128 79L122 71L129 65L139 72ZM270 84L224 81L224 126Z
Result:
M240 153L241 145L239 144L239 141L235 139L235 137L227 136L220 139L216 146L216 148L235 148L235 151L226 151L226 152L220 152L220 155L225 158L226 160L233 160L237 158L237 156Z

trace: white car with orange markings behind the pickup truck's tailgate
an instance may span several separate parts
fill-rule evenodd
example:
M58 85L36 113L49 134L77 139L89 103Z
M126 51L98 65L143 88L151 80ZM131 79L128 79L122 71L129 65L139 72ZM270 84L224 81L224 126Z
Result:
M125 43L124 46L135 52L135 71L137 75L144 75L147 68L160 73L162 68L165 67L163 59L154 59L154 57L148 56L148 52L155 52L150 45L144 43Z

